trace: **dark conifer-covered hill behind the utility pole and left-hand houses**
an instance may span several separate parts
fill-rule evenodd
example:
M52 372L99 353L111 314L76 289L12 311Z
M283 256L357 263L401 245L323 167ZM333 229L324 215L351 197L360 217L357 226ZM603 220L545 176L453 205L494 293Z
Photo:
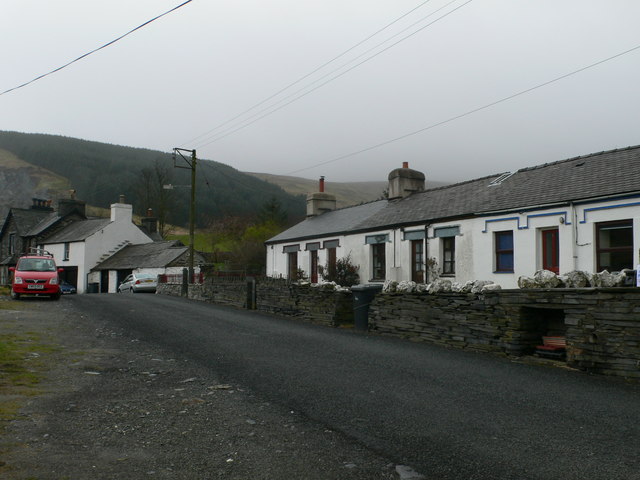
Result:
M25 206L34 196L59 198L75 189L77 198L108 208L121 194L134 212L147 208L166 212L166 223L186 225L190 188L165 190L163 185L190 185L190 169L174 168L171 154L45 134L0 132L1 178L6 207ZM185 166L185 163L178 165ZM196 224L225 216L253 217L276 199L290 221L304 216L305 200L282 188L222 163L199 159Z

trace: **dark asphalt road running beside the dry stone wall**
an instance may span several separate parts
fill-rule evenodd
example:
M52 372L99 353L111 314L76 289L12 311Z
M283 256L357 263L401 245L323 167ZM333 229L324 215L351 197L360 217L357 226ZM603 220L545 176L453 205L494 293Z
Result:
M70 302L427 479L640 479L640 385L160 295Z

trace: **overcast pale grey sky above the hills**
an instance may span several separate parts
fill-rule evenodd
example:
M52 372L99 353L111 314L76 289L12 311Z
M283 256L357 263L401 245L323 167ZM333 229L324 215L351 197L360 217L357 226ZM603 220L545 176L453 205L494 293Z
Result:
M0 92L183 2L0 0ZM464 181L640 144L640 48L552 82L640 47L638 18L637 0L192 0L0 95L0 130L328 184L405 161Z

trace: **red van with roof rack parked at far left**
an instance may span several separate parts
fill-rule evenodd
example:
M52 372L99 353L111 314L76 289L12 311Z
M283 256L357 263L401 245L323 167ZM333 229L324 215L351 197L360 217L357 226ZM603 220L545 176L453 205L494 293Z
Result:
M47 251L38 251L22 255L15 267L11 282L11 298L19 299L21 295L48 295L52 300L60 298L60 278L63 271Z

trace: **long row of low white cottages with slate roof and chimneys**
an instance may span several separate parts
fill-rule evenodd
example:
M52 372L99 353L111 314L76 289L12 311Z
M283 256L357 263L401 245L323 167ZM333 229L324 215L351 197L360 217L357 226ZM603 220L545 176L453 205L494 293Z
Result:
M517 287L540 269L562 274L640 263L640 146L611 150L424 190L408 168L389 175L389 198L335 210L307 198L307 219L266 242L267 275L321 280L318 266L350 255L361 283L464 283Z

